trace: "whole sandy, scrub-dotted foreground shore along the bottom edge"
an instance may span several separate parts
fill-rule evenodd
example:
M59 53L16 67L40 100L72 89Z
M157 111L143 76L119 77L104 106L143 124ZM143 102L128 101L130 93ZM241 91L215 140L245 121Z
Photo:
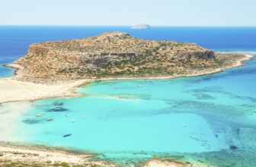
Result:
M0 142L0 165L27 166L102 166L120 167L121 164L102 159L91 159L97 154L84 153L80 150L67 150L58 147L44 147L37 145L14 145ZM204 162L195 160L181 160L177 158L152 157L146 161L138 161L143 167L206 167ZM134 162L126 165L135 165ZM136 165L137 166L137 165Z

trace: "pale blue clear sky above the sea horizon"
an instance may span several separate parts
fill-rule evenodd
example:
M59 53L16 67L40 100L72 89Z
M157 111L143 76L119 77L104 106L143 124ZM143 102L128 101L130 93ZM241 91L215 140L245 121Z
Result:
M256 26L256 0L0 0L0 25Z

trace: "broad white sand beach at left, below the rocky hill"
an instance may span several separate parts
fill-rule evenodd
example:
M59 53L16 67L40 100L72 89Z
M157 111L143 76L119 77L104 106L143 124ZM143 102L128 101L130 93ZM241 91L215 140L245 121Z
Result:
M76 80L73 83L46 85L15 80L12 77L0 79L0 102L27 101L61 96L79 96L73 93L75 87L87 80Z

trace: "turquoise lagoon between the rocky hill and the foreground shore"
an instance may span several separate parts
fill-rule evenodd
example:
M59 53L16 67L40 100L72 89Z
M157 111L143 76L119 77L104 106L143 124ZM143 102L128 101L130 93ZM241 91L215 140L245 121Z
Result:
M201 77L89 83L76 89L86 96L25 102L26 112L14 123L22 132L11 135L18 142L100 153L96 158L114 162L181 154L249 164L256 149L255 70L253 60ZM37 117L40 112L45 114Z

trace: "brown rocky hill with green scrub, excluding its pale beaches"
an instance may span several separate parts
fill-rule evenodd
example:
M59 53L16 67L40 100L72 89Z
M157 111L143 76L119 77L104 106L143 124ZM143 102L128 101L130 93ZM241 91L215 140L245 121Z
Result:
M36 43L15 61L20 80L169 77L219 68L226 59L195 43L138 39L103 33L86 39Z

